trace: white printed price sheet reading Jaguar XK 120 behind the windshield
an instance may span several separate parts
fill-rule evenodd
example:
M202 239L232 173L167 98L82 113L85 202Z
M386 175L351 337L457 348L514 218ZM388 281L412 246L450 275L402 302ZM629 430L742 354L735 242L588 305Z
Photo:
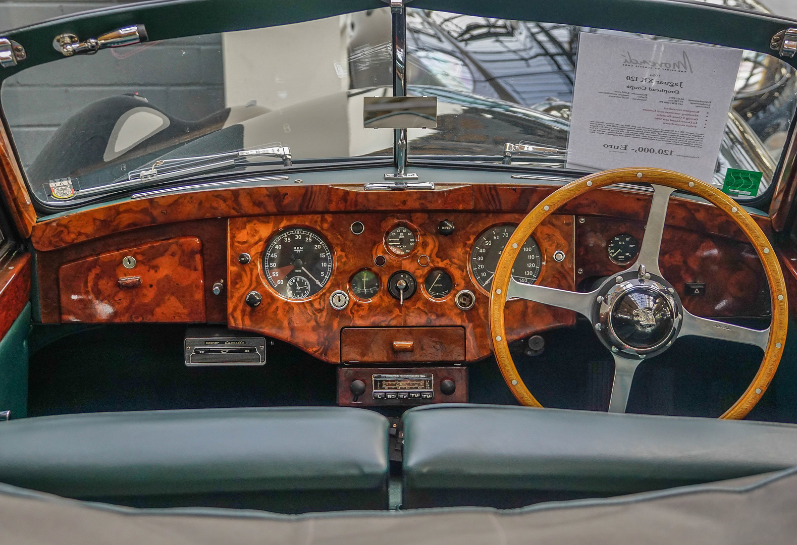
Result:
M710 183L741 49L580 33L567 167L658 167Z

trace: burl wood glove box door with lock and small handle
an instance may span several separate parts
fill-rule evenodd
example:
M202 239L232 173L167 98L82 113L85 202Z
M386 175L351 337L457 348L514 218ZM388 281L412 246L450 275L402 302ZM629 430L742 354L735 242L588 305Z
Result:
M135 261L125 266L124 259ZM204 322L202 241L179 237L102 253L59 271L64 322Z

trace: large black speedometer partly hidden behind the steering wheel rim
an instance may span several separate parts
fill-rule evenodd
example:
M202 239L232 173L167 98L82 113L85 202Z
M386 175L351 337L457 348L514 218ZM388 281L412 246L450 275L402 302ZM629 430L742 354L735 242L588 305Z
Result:
M470 270L473 280L482 288L490 290L496 265L501 258L509 237L515 232L515 225L496 225L490 227L476 239L470 252ZM512 265L512 278L521 284L534 284L540 276L542 253L533 237L528 237Z

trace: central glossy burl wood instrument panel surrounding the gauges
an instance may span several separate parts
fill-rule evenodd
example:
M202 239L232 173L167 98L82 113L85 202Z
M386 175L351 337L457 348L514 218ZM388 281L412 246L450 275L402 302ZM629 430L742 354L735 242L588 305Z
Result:
M227 252L230 285L228 325L285 340L329 363L340 362L340 331L344 327L461 326L465 328L466 359L484 358L491 351L489 294L470 276L470 249L485 229L498 224L517 224L524 215L363 212L231 218ZM443 219L449 219L457 226L447 237L437 231L438 223ZM365 225L363 234L351 233L350 226L355 221ZM398 223L410 224L420 233L414 251L402 258L387 252L383 242L384 233ZM335 253L330 280L316 296L306 301L286 300L279 296L270 288L263 274L262 257L266 241L277 231L292 226L316 229ZM543 257L540 283L553 288L574 289L574 218L553 215L540 225L534 237ZM553 259L556 250L563 251L564 261ZM249 253L252 261L241 265L237 259L241 253ZM386 265L375 266L377 255L386 257ZM429 257L429 265L418 263L418 257L422 255ZM364 268L376 273L382 284L377 295L367 301L358 300L349 289L351 276ZM422 287L426 274L434 268L446 269L453 278L453 291L442 300L427 296ZM418 280L418 292L403 305L384 288L387 279L398 270L406 270ZM330 294L339 289L348 292L351 298L347 308L341 311L329 304ZM461 289L469 289L476 294L476 304L466 311L457 308L453 301ZM256 308L249 308L244 302L250 290L263 296L262 304ZM575 313L561 308L524 300L507 304L508 339L519 339L535 331L572 323L575 323Z

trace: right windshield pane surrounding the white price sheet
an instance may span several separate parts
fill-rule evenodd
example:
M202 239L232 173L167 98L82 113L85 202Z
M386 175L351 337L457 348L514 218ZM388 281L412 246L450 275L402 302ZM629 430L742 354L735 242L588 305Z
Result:
M408 131L410 156L465 154L473 155L474 160L497 161L505 144L528 143L559 152L518 154L512 157L512 164L549 168L567 166L583 33L687 43L424 10L409 10L407 26L410 94L437 95L450 104L447 111L439 112L442 119L438 119L437 129ZM760 172L756 194L761 194L771 183L795 113L795 70L764 53L743 51L741 59L714 175L704 181L724 186L728 168ZM653 132L650 127L645 129ZM639 141L655 146L656 151L661 147L661 139L654 135ZM644 159L636 156L622 166L643 165Z

